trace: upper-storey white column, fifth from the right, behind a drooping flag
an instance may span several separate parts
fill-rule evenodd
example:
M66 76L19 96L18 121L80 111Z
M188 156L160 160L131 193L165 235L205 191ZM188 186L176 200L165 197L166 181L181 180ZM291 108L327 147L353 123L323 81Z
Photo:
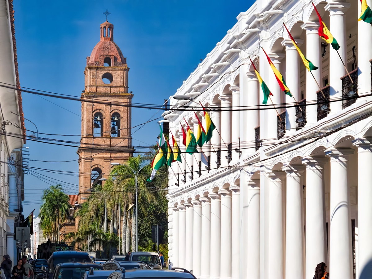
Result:
M273 64L275 65L275 67L278 69L278 71L280 71L280 61L284 58L284 54L273 54L273 53L270 53L270 54L267 54L269 55L271 61L273 62ZM265 56L262 56L262 59L266 59L266 55ZM267 62L267 61L265 61ZM273 72L273 70L270 68L270 66L268 67L267 71L269 71L269 89L271 91L271 93L274 95L274 96L271 96L271 100L273 101L274 105L276 104L281 104L282 103L282 100L281 100L281 96L282 94L284 94L282 92L282 90L280 89L280 86L278 84L278 81L276 80L276 77L275 77L275 74ZM270 99L267 101L267 104L268 105L272 105ZM282 110L281 109L269 109L267 110L267 115L269 116L269 122L267 123L267 126L268 126L268 137L269 138L277 138L278 137L278 113L281 113ZM266 123L265 123L266 124Z

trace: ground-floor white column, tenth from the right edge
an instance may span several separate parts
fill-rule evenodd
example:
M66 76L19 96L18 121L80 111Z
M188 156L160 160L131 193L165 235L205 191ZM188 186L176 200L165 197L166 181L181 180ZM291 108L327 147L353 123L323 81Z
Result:
M202 202L202 248L201 278L208 279L211 272L211 202L207 197L200 197Z

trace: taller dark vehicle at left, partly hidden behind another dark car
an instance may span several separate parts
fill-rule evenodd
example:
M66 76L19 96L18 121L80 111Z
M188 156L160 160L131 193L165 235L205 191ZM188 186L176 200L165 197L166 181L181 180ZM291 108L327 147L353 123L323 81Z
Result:
M48 259L48 272L46 278L51 279L54 269L59 263L92 263L87 252L79 251L58 251L54 252Z

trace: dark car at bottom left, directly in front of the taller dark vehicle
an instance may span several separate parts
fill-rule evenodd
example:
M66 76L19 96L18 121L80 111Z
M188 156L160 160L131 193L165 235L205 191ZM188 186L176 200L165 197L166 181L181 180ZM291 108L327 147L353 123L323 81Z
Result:
M103 267L96 263L59 263L55 267L51 279L80 279L86 271L102 270Z

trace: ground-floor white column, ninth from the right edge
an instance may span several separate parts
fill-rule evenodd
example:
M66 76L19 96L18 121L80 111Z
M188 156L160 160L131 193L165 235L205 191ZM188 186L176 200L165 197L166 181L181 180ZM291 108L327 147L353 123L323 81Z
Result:
M218 279L221 274L221 199L216 193L211 198L211 279Z

